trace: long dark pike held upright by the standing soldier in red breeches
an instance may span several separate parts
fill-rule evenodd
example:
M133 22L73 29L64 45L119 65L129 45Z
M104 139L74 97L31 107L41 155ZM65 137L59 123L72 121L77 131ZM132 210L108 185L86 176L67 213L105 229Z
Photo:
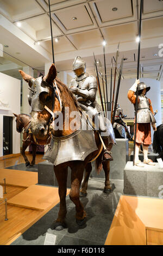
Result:
M139 16L139 45L137 54L137 79L139 79L139 68L140 68L140 38L141 38L141 15L142 15L142 0L140 2L140 16ZM135 129L134 129L134 156L133 166L135 165L135 147L136 147L136 128L137 128L137 108L138 108L138 86L136 89L136 103L135 103Z

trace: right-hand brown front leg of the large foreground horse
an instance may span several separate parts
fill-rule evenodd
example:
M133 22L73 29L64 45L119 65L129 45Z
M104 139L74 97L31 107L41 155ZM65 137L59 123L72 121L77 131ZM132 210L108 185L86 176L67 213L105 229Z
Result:
M79 162L79 161L77 161ZM83 179L84 164L82 162L72 164L71 168L71 190L70 199L76 205L76 222L78 225L84 225L86 222L86 212L84 211L83 204L79 199L80 185Z

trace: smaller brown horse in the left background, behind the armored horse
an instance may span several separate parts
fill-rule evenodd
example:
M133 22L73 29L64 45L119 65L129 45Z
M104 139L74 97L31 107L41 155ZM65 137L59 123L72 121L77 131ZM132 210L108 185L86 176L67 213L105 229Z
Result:
M23 132L23 144L21 154L26 162L26 166L34 166L35 164L35 157L36 157L36 149L37 145L45 145L47 141L43 141L41 139L36 140L33 134L30 131L30 123L31 123L31 116L28 114L14 114L16 117L16 131L21 133ZM50 138L48 139L48 143ZM32 145L32 162L30 163L28 157L26 156L26 149L29 145Z

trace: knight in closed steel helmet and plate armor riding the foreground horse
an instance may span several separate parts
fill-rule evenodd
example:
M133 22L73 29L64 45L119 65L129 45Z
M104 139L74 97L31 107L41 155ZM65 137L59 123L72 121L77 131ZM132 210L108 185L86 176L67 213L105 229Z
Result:
M99 122L99 132L106 132L105 119L101 107L96 101L97 81L96 78L86 73L86 63L81 57L76 57L73 62L73 72L76 75L70 82L70 90L76 95L78 105L90 117L96 117ZM106 146L103 161L111 161L111 148L114 141L109 136L102 136Z

